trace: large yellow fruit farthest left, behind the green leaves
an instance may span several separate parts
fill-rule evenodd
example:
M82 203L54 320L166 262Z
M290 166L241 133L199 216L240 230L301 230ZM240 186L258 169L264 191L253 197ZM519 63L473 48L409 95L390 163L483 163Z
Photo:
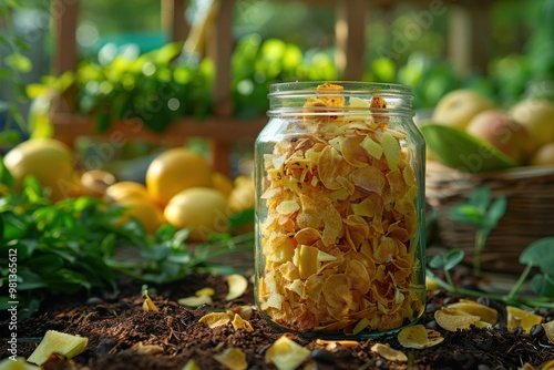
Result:
M6 167L21 185L24 177L33 175L51 191L54 201L69 196L78 184L73 176L73 153L64 143L54 138L30 138L18 144L3 158Z

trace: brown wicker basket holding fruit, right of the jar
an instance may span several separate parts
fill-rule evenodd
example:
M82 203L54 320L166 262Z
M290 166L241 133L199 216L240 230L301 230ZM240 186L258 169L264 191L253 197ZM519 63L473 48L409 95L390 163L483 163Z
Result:
M427 199L437 210L440 243L465 251L472 264L475 226L454 223L450 209L469 198L478 186L492 196L506 196L506 213L491 232L481 255L483 270L519 274L519 256L532 241L554 236L554 166L520 167L486 174L469 174L435 162L427 165Z

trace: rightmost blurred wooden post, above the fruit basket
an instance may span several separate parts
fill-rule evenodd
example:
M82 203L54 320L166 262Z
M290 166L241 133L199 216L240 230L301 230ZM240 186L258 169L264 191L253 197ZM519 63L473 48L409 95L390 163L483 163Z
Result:
M486 74L491 35L489 1L452 6L448 34L448 55L461 76L472 71Z

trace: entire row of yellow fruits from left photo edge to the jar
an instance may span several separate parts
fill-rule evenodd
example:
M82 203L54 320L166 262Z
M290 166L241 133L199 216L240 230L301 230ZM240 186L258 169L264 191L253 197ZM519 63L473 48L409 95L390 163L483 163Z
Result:
M119 223L134 217L150 234L170 223L177 229L188 228L189 240L202 241L227 232L232 215L254 208L250 176L233 181L185 147L158 154L146 171L145 184L115 182L113 175L100 169L81 174L74 161L71 148L53 138L29 140L3 158L19 186L27 175L33 175L52 201L81 195L103 198L125 208Z

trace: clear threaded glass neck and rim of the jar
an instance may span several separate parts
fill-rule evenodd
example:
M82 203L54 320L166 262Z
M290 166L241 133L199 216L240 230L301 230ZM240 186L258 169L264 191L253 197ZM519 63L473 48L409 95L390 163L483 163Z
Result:
M305 113L343 115L367 113L369 110L373 115L413 116L413 93L408 85L337 81L326 82L328 89L319 89L322 84L324 82L319 81L271 84L267 115L289 116ZM326 102L336 99L337 104L306 104L310 99L320 97L324 97ZM373 104L377 99L384 101L384 106Z

